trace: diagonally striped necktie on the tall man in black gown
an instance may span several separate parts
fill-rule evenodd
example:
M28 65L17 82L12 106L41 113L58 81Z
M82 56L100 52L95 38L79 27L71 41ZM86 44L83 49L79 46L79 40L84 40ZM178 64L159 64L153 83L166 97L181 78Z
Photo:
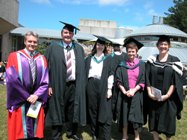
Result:
M68 45L66 47L67 53L66 53L66 67L67 67L67 75L66 78L70 79L72 75L72 62L71 62L71 51L69 50L70 46Z

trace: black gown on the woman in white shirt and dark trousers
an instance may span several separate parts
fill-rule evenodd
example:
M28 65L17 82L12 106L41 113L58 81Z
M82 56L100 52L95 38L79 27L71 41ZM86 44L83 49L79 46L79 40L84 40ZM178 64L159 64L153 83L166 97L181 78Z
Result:
M88 74L90 69L92 56L88 56L85 60L86 62L86 76L88 80ZM103 61L103 70L101 74L101 85L98 89L98 92L100 93L100 99L98 102L98 122L100 123L112 123L112 104L111 99L107 99L107 90L108 90L108 77L110 75L113 75L112 71L112 57L107 56L107 58ZM87 97L89 98L89 97Z

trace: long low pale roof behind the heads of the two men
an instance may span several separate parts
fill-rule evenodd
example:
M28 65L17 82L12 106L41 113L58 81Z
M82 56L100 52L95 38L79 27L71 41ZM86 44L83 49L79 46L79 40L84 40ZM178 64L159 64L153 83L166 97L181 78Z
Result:
M36 32L39 35L39 37L61 39L61 30L18 27L14 30L11 30L10 33L24 36L25 33L28 31ZM78 32L76 35L74 35L74 39L92 40L92 39L95 39L95 37L91 34Z

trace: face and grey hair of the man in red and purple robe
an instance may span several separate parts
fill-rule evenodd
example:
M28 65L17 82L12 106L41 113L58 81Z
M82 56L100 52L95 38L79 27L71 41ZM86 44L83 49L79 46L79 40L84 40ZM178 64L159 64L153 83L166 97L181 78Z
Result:
M38 47L38 38L32 35L26 36L24 44L29 52L33 52Z

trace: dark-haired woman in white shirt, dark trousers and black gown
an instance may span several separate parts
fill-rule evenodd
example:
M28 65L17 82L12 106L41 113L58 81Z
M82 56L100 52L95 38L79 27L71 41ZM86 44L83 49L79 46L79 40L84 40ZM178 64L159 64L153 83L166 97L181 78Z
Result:
M98 37L86 58L87 103L92 140L110 140L112 124L112 57L106 54L107 39ZM99 133L101 132L101 133Z

